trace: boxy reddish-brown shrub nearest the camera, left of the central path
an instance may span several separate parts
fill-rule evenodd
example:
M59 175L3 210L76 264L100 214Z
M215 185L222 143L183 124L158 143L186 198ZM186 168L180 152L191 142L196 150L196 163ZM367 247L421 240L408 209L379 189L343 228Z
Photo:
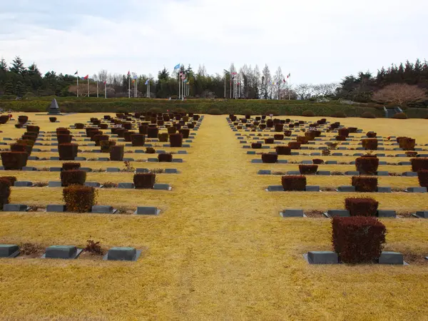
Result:
M63 188L63 200L69 212L90 212L92 206L96 205L97 195L98 191L89 186L70 185Z

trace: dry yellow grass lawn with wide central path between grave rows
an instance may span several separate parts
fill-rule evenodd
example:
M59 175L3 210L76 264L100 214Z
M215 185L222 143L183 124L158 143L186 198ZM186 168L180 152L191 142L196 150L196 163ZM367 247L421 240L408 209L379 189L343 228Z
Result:
M47 123L42 116L31 119L49 130L86 121L91 116L101 115L63 116L60 124ZM426 126L427 121L352 118L340 121L384 136L395 133L416 136L421 143L427 141L422 132L422 123ZM404 126L397 128L397 124ZM1 137L18 131L11 124L1 130L4 131ZM163 209L158 217L1 213L1 243L83 246L91 236L107 248L147 246L148 251L136 263L0 260L0 317L14 320L427 318L426 264L310 266L302 259L307 250L330 249L330 220L284 220L278 211L293 207L335 208L347 194L265 192L265 185L277 184L279 176L257 175L263 166L250 163L224 116L205 116L197 137L193 147L188 148L186 163L176 166L182 173L160 175L161 181L173 185L172 191L102 190L100 193L100 203L158 205ZM20 178L25 175L31 178L40 175L45 177L41 180L48 180L48 173L19 173ZM117 178L98 173L91 174L91 178L102 180L98 175L106 180ZM43 204L59 201L61 190L55 190L57 193L48 188L14 188L12 200ZM422 209L428 200L427 195L404 193L376 194L375 198L382 208L397 210ZM389 249L420 256L428 254L427 220L385 219L384 222L389 230Z

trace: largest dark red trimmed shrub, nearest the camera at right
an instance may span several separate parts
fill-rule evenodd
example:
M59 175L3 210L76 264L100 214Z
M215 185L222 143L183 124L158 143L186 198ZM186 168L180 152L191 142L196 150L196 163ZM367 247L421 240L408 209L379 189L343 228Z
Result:
M370 263L377 260L387 229L377 218L355 216L332 219L333 248L343 263Z

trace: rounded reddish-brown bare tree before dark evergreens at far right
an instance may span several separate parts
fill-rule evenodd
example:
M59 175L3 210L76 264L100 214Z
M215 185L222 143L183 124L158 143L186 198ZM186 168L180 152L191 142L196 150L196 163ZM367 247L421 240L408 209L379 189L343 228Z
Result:
M372 100L379 103L417 103L427 99L427 94L422 88L407 83L392 83L374 93Z

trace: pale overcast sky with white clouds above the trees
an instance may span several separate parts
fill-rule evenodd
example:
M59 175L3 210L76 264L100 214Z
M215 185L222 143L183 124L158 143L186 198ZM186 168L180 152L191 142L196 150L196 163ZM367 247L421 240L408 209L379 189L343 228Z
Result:
M340 81L428 53L426 0L13 0L0 6L0 56L42 73L92 75L244 63L292 83Z

